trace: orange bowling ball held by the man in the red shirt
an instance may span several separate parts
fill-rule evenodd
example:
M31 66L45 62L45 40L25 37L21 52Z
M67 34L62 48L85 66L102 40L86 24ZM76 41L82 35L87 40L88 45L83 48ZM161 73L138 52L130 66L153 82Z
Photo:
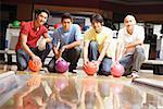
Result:
M34 72L38 72L42 66L42 62L34 62L32 59L28 62L28 68L29 70L34 71Z

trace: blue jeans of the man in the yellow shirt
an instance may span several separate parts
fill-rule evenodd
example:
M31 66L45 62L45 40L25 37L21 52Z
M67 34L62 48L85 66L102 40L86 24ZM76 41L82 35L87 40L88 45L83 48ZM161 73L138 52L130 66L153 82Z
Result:
M88 58L89 61L95 60L97 61L100 52L99 52L99 45L97 41L90 41L89 44L89 48L88 48ZM112 65L112 58L109 57L104 57L100 66L99 66L99 71L98 74L99 75L110 75L111 74L111 65Z

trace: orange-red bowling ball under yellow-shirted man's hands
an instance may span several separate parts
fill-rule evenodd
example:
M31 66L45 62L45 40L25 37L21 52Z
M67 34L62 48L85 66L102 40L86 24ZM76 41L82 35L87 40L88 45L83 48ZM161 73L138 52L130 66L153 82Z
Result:
M93 75L98 71L93 62L88 62L85 66L83 66L83 69L87 73L87 75Z

